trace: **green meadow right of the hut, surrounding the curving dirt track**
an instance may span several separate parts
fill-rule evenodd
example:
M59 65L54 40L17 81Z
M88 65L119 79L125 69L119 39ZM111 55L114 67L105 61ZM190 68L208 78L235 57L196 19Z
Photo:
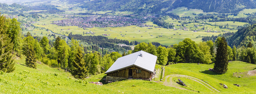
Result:
M256 68L255 64L249 64L241 61L233 61L228 65L228 71L225 74L216 74L212 71L208 71L209 68L213 68L214 64L195 64L195 63L178 63L172 64L165 67L165 75L171 74L179 74L179 75L188 75L191 77L198 78L205 83L208 83L212 87L216 88L220 91L220 93L243 93L243 92L251 92L256 93L256 75L246 77L242 75L233 75L235 72L247 72L250 70L254 70ZM237 77L235 77L237 76ZM241 76L241 78L238 78ZM187 88L193 91L201 91L201 92L209 92L209 89L195 88L195 87L203 87L198 86L198 83L191 81L184 77L179 77L185 84L188 85ZM178 78L166 78L165 80L178 81ZM228 89L223 88L223 86L219 85L219 83L223 83L228 86ZM239 84L241 87L235 86L233 84ZM205 88L205 87L204 87Z

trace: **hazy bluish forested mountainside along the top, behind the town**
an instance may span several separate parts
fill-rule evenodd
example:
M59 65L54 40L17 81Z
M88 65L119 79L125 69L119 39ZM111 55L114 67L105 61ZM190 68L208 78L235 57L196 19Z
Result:
M245 8L256 8L255 0L92 0L80 7L95 11L133 11L161 13L181 6L205 12L238 13Z

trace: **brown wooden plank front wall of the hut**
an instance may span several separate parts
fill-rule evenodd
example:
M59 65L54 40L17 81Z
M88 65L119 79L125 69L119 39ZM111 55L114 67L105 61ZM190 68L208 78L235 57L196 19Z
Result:
M129 67L129 68L126 68L126 69L123 69L123 70L120 70L120 71L109 73L109 74L107 74L107 76L126 77L126 78L128 78L129 69L140 69L140 68L133 66L133 67ZM151 76L150 72L141 69L141 72L140 73L136 73L136 76L133 77L133 78L150 78L150 76Z

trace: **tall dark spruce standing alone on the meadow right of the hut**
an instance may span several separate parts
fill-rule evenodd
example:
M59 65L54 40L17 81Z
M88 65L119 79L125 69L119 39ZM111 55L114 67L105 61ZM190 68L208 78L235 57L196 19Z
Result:
M214 71L220 74L228 70L228 45L224 37L218 38L216 41L217 53L215 57Z

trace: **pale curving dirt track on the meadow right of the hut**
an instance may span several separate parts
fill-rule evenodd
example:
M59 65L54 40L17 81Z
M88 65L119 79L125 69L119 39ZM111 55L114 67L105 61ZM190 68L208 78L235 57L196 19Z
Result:
M220 92L220 91L218 91L217 89L213 88L212 86L210 86L209 84L205 83L204 81L202 81L202 80L200 80L200 79L198 79L198 78L194 78L194 77L187 76L187 75L178 75L178 74L167 75L167 76L165 77L165 81L164 81L164 83L163 83L163 85L165 85L165 86L171 86L171 87L178 88L178 89L188 90L188 89L185 89L185 88L181 88L181 87L178 85L178 83L174 83L173 81L167 82L167 80L168 80L167 78L168 78L168 77L171 77L170 80L172 80L173 77L185 77L185 78L189 78L189 79L191 79L191 80L193 80L193 81L196 81L196 82L198 82L198 83L204 85L206 88L210 89L211 91L214 91L214 90L215 90L215 91L217 91L217 92ZM215 92L215 91L214 91L214 92Z

